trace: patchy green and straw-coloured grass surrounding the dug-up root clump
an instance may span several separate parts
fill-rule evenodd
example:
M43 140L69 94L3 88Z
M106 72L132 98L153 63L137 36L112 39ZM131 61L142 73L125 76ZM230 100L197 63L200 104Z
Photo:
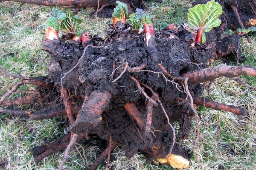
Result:
M149 11L155 14L157 24L184 23L191 0L163 0L163 3L148 4ZM0 3L0 67L12 73L23 76L47 75L49 58L39 49L44 40L44 23L49 16L51 7L35 6L13 2ZM105 36L105 30L111 19L91 18L91 8L79 11L83 20L77 34L88 31L91 34ZM160 21L159 21L160 20ZM227 34L231 31L227 30ZM256 34L250 34L251 43L245 38L241 40L242 54L245 57L243 65L256 67ZM221 64L221 60L218 64ZM236 65L236 62L233 63ZM241 77L248 84L256 87L254 77ZM0 96L8 91L17 79L0 76ZM20 90L33 90L33 86L23 85ZM209 88L215 101L247 108L246 117L236 116L224 111L215 111L204 107L198 108L200 114L200 139L195 148L199 163L206 170L213 169L243 169L253 170L256 167L256 93L243 85L227 78L218 78ZM15 93L11 97L21 96ZM204 91L208 96L207 91ZM20 107L26 109L26 107ZM178 126L177 126L178 129ZM67 131L66 120L62 118L35 121L9 114L0 114L0 169L31 169L53 170L62 161L64 151L54 153L39 164L35 164L30 149L64 136ZM196 139L195 120L189 139L184 141L184 147L192 150ZM76 145L64 168L67 170L86 169L99 156L99 147L88 145L86 141ZM115 159L111 166L116 170L173 170L171 166L161 166L146 163L143 153L137 153L132 158L125 157L125 149L116 147L112 154ZM98 167L103 170L104 167ZM191 170L201 169L192 157Z

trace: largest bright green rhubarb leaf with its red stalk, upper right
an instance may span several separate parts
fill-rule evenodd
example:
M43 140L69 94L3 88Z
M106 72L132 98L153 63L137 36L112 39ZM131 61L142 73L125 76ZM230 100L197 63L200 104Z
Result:
M222 7L220 4L211 0L206 4L196 5L189 9L188 23L191 29L197 30L195 42L202 41L204 32L210 31L212 28L220 26L221 20L218 17L222 14Z

